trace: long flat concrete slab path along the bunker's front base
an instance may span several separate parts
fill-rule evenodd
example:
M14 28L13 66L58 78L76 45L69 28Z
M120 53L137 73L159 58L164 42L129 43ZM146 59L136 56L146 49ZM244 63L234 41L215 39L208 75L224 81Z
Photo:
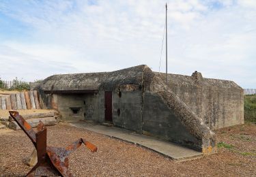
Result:
M81 122L70 123L70 124L75 127L87 129L89 131L94 131L96 133L101 133L104 135L108 135L113 138L118 138L126 142L139 144L140 146L149 148L150 150L154 150L155 152L165 155L175 161L187 161L190 159L197 159L203 156L203 153L198 152L196 150L179 146L171 142L159 140L157 138L150 137L147 135L141 135L141 134L135 133L134 131L128 131L126 129L120 129L117 127L106 127L103 125L94 125L91 123L81 123Z

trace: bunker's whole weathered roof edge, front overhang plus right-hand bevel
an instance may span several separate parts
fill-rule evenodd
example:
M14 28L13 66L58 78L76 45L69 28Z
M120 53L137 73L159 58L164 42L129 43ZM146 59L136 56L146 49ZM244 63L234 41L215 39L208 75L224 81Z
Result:
M40 83L39 88L45 93L97 93L100 90L113 91L120 86L132 85L131 89L139 89L143 85L143 72L147 68L151 73L165 80L164 73L153 72L147 65L138 65L111 72L84 73L84 74L57 74L50 76ZM145 78L145 77L144 77ZM169 86L216 86L221 88L242 89L238 84L229 80L202 78L201 73L195 72L193 76L168 74Z

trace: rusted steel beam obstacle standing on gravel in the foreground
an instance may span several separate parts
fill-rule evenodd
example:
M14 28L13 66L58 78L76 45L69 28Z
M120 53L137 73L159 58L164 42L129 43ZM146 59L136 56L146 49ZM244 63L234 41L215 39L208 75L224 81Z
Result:
M38 163L33 166L27 176L72 176L68 170L68 155L79 148L81 144L85 144L91 152L97 151L97 147L94 144L87 142L83 138L73 142L66 148L47 146L47 129L41 121L37 128L38 131L35 132L18 112L10 111L10 116L27 134L37 151Z

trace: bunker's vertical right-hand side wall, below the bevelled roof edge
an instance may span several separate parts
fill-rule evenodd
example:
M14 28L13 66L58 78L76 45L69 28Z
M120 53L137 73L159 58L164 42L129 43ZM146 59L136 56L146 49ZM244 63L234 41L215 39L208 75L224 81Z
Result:
M218 86L177 86L171 90L211 129L244 123L242 90Z

